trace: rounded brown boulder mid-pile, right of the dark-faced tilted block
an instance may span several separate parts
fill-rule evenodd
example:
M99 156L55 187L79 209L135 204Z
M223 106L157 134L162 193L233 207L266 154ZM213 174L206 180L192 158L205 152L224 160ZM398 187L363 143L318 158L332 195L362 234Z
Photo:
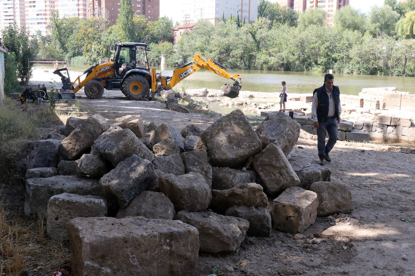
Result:
M159 187L176 210L200 211L206 209L212 199L212 190L200 173L162 175Z

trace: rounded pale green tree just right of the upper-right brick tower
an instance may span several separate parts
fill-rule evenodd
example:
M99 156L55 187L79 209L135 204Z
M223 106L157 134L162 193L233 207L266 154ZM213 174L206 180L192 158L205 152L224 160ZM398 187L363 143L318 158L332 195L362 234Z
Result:
M365 14L349 5L342 7L336 12L336 14L334 14L333 22L334 27L339 30L348 29L352 31L360 31L361 33L366 31Z

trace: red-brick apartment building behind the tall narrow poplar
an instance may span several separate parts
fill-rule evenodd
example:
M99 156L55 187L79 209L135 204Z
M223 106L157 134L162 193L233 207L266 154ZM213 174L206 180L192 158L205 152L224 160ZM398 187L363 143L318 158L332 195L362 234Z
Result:
M86 16L105 16L110 25L117 23L120 14L120 0L86 0ZM132 9L137 15L145 15L148 21L157 21L160 17L160 0L132 0Z

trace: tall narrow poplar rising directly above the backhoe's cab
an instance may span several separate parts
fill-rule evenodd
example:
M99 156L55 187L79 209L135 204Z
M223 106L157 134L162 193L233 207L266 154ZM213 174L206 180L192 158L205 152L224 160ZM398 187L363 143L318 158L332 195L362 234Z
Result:
M117 18L117 34L122 41L137 40L138 28L134 24L134 15L131 0L121 0L120 15Z

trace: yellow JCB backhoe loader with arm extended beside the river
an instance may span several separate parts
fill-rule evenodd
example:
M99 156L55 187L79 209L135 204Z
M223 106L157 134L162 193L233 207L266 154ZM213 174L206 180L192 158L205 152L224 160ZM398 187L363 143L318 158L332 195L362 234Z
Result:
M117 43L114 46L114 59L111 62L93 65L80 74L74 82L62 74L62 71L66 70L67 76L69 76L67 68L55 70L54 74L61 77L63 84L60 93L58 93L60 98L73 99L75 98L74 93L85 87L85 95L90 99L101 98L105 88L107 90L121 90L129 100L135 101L149 97L151 89L151 98L154 100L154 93L161 91L161 89L173 88L178 82L201 68L234 81L233 86L225 92L224 96L235 98L242 88L239 74L200 54L196 54L193 61L176 68L173 71L173 76L162 76L161 73L156 73L154 68L149 67L146 51L150 49L147 46L144 43ZM81 80L83 75L85 78Z

